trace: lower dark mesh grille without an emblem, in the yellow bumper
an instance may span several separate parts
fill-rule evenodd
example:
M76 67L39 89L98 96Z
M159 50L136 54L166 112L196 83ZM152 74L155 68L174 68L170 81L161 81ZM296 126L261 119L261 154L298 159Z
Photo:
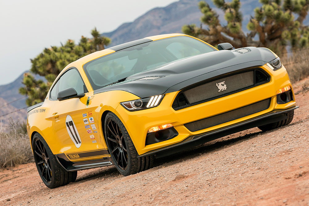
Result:
M240 107L238 109L234 109L229 112L225 112L205 119L190 122L184 124L184 126L187 127L187 129L190 131L198 131L206 129L208 127L213 127L215 125L223 124L225 122L230 122L232 120L246 117L250 114L255 114L257 112L268 109L270 105L270 100L271 98L265 99L263 101L259 101L251 105Z

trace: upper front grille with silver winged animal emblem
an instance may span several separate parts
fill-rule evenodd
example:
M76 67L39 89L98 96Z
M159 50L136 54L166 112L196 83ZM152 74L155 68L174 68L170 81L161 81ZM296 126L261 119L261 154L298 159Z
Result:
M182 90L172 107L178 110L200 104L264 84L269 80L269 75L259 68L220 76Z

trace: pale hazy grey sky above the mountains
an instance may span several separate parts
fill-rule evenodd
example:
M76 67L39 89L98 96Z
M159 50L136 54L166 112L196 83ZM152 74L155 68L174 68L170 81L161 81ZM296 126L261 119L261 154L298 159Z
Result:
M29 70L45 47L109 32L177 0L0 0L0 85Z

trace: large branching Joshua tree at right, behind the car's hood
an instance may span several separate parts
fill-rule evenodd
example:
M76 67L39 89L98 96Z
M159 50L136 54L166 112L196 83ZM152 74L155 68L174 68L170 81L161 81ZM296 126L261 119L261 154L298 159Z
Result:
M210 44L231 43L235 48L245 46L268 47L274 51L285 49L288 41L293 48L307 47L309 29L303 25L309 9L309 0L260 0L262 6L254 9L245 34L242 29L240 1L213 0L214 5L225 13L226 25L222 25L218 14L205 2L199 2L201 22L208 28L194 24L184 25L184 33L201 38ZM297 19L294 15L297 15ZM258 38L255 38L257 35ZM258 39L258 40L257 40Z

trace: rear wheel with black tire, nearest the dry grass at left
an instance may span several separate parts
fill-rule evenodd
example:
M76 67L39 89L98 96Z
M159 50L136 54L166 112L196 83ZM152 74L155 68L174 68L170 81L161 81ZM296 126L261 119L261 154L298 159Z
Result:
M58 163L55 155L39 133L33 136L32 148L36 168L47 187L56 188L76 180L77 171L66 171Z

